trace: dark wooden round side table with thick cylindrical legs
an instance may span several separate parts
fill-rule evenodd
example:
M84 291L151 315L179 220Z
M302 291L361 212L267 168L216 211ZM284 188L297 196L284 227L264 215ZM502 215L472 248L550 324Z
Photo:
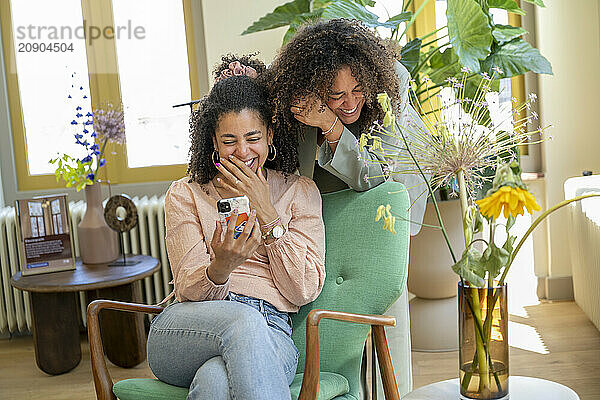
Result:
M140 279L160 268L156 258L135 255L139 261L127 267L85 265L77 260L73 271L22 276L17 272L11 284L31 294L33 341L38 367L58 375L81 361L77 292L89 291L93 298L141 302ZM146 332L143 315L105 311L101 329L106 356L114 364L130 368L146 358Z

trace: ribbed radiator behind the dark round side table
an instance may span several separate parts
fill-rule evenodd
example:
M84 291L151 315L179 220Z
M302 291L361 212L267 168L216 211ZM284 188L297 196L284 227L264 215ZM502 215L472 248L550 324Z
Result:
M139 223L130 232L122 234L123 249L127 254L145 254L158 258L161 269L142 281L143 302L155 304L171 291L171 269L165 247L165 198L144 196L133 198L137 206ZM75 255L79 256L77 225L85 213L85 202L70 202L71 231ZM31 331L29 294L14 289L10 278L19 270L15 209L0 208L0 334L27 333ZM86 324L85 293L79 293L81 319Z

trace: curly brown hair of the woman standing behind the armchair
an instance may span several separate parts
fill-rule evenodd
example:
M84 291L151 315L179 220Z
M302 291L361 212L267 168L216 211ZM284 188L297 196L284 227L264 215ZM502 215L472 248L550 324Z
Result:
M298 136L303 125L290 112L293 101L312 92L327 102L337 73L344 66L350 67L365 96L358 119L361 131L373 121L381 121L384 113L377 105L377 94L387 92L394 105L399 101L394 53L358 21L333 19L303 26L261 76L271 95L275 131Z

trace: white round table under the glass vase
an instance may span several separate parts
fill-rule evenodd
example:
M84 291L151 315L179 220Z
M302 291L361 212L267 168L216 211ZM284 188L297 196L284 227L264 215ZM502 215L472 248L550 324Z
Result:
M526 376L510 376L510 400L579 400L572 389L560 383ZM432 383L413 390L402 400L458 400L458 378Z

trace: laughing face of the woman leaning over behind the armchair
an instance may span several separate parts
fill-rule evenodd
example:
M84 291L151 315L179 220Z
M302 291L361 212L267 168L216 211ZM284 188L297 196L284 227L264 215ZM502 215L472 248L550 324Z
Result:
M347 125L358 120L364 104L360 83L352 76L350 67L342 67L329 91L327 106Z

